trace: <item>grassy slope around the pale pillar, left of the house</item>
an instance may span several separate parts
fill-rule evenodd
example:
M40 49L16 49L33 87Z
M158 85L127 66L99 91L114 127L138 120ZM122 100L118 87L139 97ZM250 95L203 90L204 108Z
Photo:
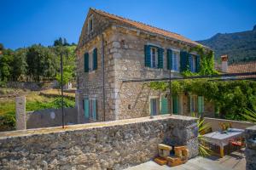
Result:
M43 109L61 108L61 98L58 90L46 92L30 92L12 89L4 89L11 94L19 91L19 95L26 96L26 111L38 111ZM3 90L2 90L3 92ZM46 93L46 94L44 94ZM5 94L5 93L2 93ZM74 107L74 94L65 95L64 107ZM68 99L67 99L68 98ZM0 98L0 132L15 129L15 97Z

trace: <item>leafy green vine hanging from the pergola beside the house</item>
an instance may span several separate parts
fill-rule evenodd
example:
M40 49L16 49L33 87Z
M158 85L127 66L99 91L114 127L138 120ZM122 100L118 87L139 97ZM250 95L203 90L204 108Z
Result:
M169 91L169 82L150 82L149 87L162 92ZM221 118L244 120L245 109L256 109L256 82L183 80L171 82L172 94L202 95L216 106Z

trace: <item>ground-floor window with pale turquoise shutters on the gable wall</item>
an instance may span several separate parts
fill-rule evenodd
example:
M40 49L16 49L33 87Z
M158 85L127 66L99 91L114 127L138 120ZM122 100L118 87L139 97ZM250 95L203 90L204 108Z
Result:
M84 117L96 121L96 99L84 99Z

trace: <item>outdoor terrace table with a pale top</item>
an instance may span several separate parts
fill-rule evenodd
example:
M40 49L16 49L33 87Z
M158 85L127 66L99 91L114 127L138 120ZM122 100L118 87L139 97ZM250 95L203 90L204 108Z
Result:
M227 131L216 131L213 133L207 133L203 135L207 142L216 144L219 146L219 155L224 157L224 146L230 144L230 139L236 139L242 137L244 133L243 129L229 128Z

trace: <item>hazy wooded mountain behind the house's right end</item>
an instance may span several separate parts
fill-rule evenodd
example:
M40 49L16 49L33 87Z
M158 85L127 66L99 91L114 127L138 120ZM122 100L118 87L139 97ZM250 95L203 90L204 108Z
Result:
M230 64L256 60L256 25L252 31L218 33L198 42L212 48L216 60L223 54L228 54Z

